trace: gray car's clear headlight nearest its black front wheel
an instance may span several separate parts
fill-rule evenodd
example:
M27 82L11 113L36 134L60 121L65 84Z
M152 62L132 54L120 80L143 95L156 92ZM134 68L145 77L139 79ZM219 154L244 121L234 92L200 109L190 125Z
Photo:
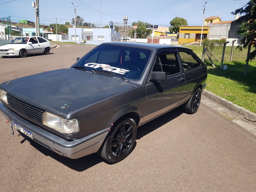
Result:
M79 130L78 121L76 119L64 119L49 112L42 114L42 123L65 134L72 134Z

